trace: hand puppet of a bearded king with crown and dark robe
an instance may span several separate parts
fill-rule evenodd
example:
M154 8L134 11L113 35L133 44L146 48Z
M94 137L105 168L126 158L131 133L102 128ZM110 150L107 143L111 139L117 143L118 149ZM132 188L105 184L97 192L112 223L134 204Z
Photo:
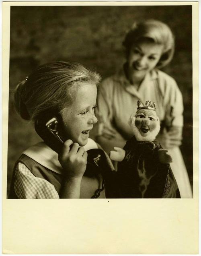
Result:
M160 121L156 104L137 101L129 119L134 136L123 149L115 147L110 158L118 161L113 177L113 198L180 198L170 163L172 157L155 140Z

